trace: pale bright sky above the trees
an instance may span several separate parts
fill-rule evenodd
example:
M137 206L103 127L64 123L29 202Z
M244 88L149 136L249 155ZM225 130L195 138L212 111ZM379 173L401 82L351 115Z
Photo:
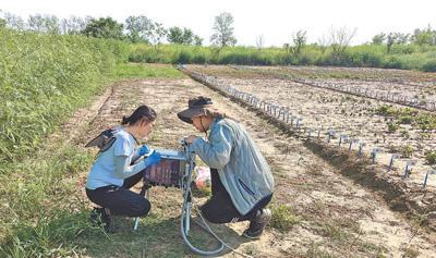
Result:
M0 0L0 10L27 19L53 14L60 19L111 16L123 23L130 15L145 15L165 27L191 28L209 45L215 16L232 14L237 45L281 47L298 30L307 41L328 38L331 28L356 28L351 45L371 41L382 32L412 33L436 28L436 0Z

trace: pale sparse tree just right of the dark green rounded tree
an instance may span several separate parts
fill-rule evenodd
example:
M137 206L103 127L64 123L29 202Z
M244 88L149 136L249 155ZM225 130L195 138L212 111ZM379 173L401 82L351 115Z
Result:
M147 42L152 41L154 34L154 22L142 16L129 16L125 20L125 29L128 30L128 38L131 42Z

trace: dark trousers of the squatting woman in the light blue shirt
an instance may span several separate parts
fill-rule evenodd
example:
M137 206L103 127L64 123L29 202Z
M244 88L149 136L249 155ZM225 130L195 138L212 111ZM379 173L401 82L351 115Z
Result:
M142 172L132 175L124 180L122 187L109 185L96 189L86 188L86 196L94 204L108 208L111 214L143 217L150 210L150 202L144 196L129 189L142 177Z

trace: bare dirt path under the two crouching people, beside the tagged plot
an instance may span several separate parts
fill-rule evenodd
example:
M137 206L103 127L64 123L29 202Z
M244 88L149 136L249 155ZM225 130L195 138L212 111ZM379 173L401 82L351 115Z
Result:
M239 251L254 257L434 257L434 234L409 224L390 211L382 198L337 173L300 140L281 135L254 113L191 79L146 79L117 85L88 132L74 142L83 145L89 135L117 124L122 115L145 103L158 112L155 133L148 143L177 148L178 140L194 130L180 122L175 113L185 107L187 98L199 95L211 97L219 109L246 126L274 170L274 205L289 206L300 221L289 232L268 228L264 237L255 242L239 236L246 223L215 226ZM131 221L122 220L109 245L107 238L84 239L81 245L89 249L101 247L102 253L89 250L92 257L192 256L178 231L180 202L177 189L156 187L152 192L152 213L142 220L144 230L132 233ZM152 233L153 239L147 238Z

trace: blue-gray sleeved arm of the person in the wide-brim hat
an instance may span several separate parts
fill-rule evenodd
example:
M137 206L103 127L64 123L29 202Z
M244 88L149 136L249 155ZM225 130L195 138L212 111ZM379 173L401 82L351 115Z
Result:
M209 143L196 137L191 145L192 150L210 168L222 169L230 160L232 134L226 126L217 126L210 132Z

